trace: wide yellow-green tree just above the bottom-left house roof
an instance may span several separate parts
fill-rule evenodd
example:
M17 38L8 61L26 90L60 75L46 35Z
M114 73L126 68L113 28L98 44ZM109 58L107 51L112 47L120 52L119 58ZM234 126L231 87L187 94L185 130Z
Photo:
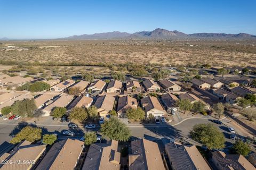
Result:
M22 140L27 140L30 142L38 141L42 138L42 129L41 128L33 128L31 126L26 126L21 129L21 131L15 135L14 138L10 141L12 144L16 144L21 142Z

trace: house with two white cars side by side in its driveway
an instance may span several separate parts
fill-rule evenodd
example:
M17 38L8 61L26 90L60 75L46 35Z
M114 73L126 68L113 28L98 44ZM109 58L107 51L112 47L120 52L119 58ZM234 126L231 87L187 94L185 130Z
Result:
M165 114L165 110L163 109L161 103L156 97L147 96L145 98L142 98L140 101L142 108L146 112L147 117L150 114L153 116L163 116Z

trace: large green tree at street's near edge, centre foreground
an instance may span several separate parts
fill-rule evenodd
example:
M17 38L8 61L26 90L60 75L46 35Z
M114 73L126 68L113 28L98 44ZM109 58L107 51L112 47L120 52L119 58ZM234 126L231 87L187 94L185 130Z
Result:
M101 125L100 131L103 136L117 141L127 141L131 135L126 124L118 120L117 117L110 117L108 121Z

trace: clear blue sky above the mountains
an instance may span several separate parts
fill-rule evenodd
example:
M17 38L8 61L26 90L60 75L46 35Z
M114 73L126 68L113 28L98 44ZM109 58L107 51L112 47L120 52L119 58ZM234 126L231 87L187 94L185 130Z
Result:
M156 28L256 35L255 6L255 0L0 0L0 38L60 38Z

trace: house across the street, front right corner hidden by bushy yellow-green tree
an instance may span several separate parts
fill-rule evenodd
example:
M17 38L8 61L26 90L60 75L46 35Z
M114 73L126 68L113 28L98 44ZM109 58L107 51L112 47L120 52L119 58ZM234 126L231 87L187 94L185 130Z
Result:
M123 96L118 98L117 103L117 116L125 117L125 112L129 108L137 108L138 102L137 99L130 96Z

